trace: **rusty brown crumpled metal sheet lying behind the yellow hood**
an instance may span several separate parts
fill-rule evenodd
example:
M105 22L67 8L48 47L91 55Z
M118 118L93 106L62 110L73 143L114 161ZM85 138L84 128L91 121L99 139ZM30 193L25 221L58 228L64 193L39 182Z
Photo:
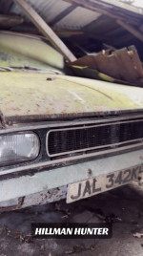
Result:
M97 78L96 74L99 79L143 86L143 67L134 46L85 55L71 65L77 75Z

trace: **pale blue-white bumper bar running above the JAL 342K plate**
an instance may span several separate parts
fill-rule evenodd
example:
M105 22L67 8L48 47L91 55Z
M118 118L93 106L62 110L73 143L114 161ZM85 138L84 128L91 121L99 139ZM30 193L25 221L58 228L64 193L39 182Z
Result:
M84 181L89 178L123 170L143 164L143 149L99 160L89 160L70 166L47 171L46 166L34 175L25 175L0 181L0 202L25 197L34 193L48 191L52 188L67 186L72 182ZM89 174L92 170L92 175ZM31 203L32 204L32 203Z

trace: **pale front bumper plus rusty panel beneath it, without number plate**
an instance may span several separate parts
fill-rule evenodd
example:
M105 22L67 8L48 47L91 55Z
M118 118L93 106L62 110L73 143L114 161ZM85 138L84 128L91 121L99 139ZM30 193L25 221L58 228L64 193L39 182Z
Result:
M44 167L41 172L32 176L27 174L0 181L0 206L15 205L15 200L20 202L19 207L50 203L65 198L67 185L70 183L110 174L135 165L143 165L143 149L51 170Z

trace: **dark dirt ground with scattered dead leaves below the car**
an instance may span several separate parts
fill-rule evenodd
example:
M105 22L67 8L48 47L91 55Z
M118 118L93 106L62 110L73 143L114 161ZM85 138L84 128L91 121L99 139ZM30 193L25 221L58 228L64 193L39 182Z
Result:
M31 223L112 222L112 239L31 238ZM0 215L0 256L142 256L143 189L135 183L81 202L65 201Z

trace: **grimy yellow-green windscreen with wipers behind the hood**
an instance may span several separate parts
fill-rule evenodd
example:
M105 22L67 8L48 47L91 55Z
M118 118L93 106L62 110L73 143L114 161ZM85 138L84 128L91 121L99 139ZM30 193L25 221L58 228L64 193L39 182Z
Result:
M19 69L62 74L64 59L39 37L0 32L0 71Z

